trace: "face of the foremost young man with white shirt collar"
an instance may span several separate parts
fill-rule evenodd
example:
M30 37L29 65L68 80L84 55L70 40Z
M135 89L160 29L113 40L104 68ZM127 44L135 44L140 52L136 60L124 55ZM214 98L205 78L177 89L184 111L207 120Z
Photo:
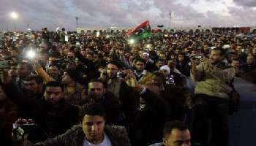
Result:
M86 139L98 144L104 138L105 120L99 115L85 115L82 122L83 132L86 134Z

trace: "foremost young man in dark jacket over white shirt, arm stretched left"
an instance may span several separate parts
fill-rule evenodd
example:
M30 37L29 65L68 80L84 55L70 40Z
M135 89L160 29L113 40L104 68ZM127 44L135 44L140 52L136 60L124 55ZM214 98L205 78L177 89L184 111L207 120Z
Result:
M29 142L26 137L24 141L17 143L20 146L130 146L125 128L106 125L106 118L108 117L101 104L85 104L80 110L80 124L66 133L36 144Z

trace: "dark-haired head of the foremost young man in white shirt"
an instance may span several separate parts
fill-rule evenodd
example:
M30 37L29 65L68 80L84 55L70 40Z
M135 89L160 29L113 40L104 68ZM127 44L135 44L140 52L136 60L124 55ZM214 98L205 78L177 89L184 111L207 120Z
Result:
M80 124L86 139L94 145L104 139L106 112L98 103L84 104L79 113Z

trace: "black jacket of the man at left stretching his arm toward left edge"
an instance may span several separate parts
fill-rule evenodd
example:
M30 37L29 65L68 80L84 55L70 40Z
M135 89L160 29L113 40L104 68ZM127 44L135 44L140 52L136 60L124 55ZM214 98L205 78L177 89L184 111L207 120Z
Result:
M78 107L61 100L59 107L53 109L45 103L44 98L31 99L20 93L17 86L11 82L2 85L7 97L19 108L26 109L28 117L37 123L36 134L31 134L32 142L39 142L48 137L56 137L78 123Z

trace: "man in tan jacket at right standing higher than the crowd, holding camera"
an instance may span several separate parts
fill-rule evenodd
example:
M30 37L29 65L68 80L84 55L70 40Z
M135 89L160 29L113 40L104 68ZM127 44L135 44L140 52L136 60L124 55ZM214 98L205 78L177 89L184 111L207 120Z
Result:
M225 63L225 50L211 50L210 58L202 58L199 65L192 60L191 77L195 88L195 121L192 139L203 146L228 145L229 98L235 69ZM210 122L211 120L211 122Z

